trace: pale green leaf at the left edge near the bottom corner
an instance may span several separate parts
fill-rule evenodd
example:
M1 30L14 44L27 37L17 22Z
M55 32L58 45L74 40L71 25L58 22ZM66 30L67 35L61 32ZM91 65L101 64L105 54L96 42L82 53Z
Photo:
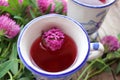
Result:
M9 71L9 69L13 67L15 62L16 60L9 60L0 64L0 78L2 78Z

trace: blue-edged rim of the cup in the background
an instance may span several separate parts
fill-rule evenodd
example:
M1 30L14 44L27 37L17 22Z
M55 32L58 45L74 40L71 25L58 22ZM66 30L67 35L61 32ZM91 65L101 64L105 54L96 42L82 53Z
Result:
M84 6L84 7L88 7L88 8L105 8L108 7L112 4L114 4L116 2L116 0L112 0L111 2L104 4L104 5L90 5L90 4L86 4L83 2L80 2L78 0L72 0L73 2L77 3L78 5Z

